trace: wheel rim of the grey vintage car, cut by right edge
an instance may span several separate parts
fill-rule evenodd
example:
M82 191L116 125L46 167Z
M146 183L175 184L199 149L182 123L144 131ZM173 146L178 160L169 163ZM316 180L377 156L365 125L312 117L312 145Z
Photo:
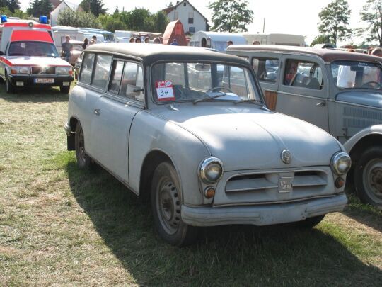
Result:
M369 161L363 174L366 193L376 202L382 203L382 159Z

